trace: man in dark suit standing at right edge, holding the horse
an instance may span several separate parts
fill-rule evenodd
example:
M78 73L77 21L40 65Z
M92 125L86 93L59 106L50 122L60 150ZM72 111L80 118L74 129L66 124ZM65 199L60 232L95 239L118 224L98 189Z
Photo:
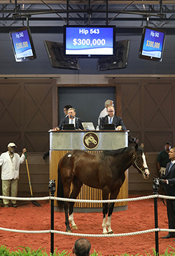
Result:
M167 196L175 196L175 147L169 151L169 159L171 162L167 163L164 179L160 179L160 183L165 187ZM175 229L175 200L167 199L167 216L169 222L169 229ZM167 236L162 238L175 238L175 231L169 232Z

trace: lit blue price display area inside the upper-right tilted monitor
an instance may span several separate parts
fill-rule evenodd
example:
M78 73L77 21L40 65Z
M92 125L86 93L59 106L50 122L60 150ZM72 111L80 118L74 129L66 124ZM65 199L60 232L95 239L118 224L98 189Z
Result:
M161 58L165 33L146 28L142 55Z

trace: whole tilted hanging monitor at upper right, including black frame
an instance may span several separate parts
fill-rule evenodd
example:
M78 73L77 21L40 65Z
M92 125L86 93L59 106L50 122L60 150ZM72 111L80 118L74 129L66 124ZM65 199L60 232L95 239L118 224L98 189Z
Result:
M164 44L165 31L144 27L139 58L162 61Z

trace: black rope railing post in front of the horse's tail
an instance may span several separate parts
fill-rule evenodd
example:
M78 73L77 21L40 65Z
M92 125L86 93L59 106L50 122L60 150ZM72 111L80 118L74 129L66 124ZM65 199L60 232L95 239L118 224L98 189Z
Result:
M55 196L55 180L49 180L49 186L48 189L50 189L50 196ZM50 200L50 231L54 230L54 200ZM50 253L53 255L54 252L54 233L50 233Z

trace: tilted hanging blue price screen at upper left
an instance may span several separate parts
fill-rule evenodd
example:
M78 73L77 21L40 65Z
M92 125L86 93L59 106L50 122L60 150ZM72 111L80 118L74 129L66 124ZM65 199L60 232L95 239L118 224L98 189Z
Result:
M29 27L22 27L10 32L10 39L17 62L36 59Z

